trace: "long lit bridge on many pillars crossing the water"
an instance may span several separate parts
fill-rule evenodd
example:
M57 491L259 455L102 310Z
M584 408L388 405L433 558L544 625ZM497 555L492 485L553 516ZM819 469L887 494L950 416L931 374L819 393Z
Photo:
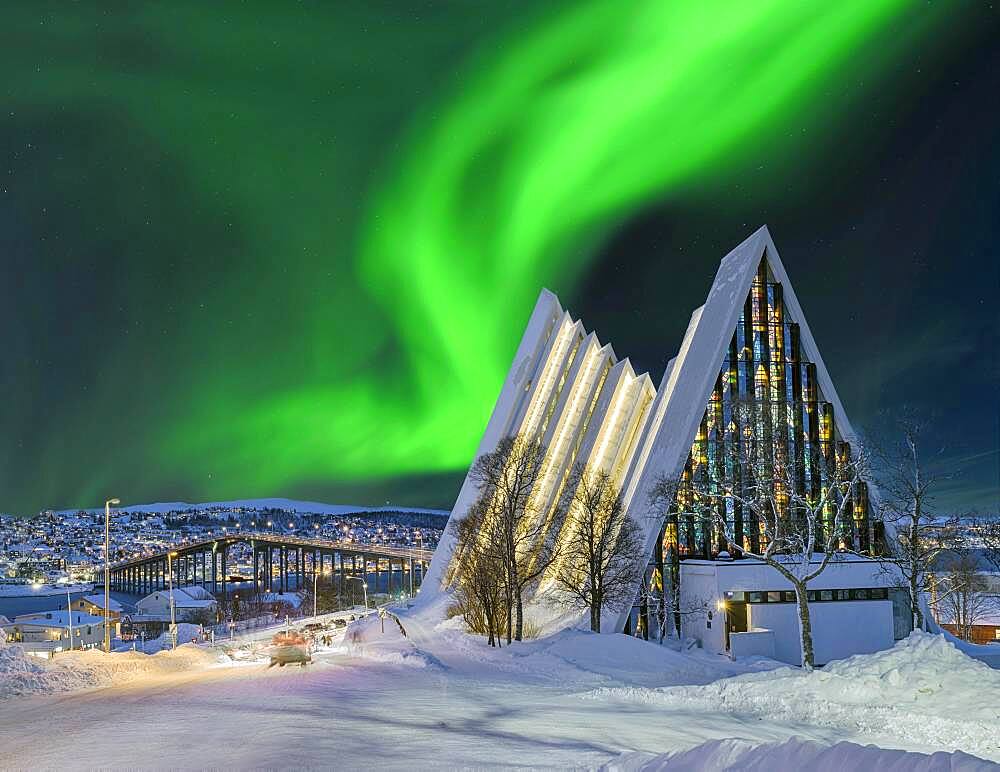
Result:
M286 592L302 588L321 576L338 576L339 586L351 578L365 579L375 574L375 586L382 573L389 594L393 577L399 574L401 591L416 589L430 565L433 550L421 547L390 547L354 541L306 538L273 533L234 533L179 544L171 550L126 560L110 567L111 589L132 595L146 595L174 587L198 584L215 594L226 595L231 585L228 552L234 544L249 544L253 552L255 591Z

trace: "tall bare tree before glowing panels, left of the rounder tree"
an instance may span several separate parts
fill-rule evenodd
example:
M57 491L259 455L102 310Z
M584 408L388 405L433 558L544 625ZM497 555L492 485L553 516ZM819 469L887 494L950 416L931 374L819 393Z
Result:
M524 596L556 557L558 523L550 522L536 501L545 469L545 446L523 437L505 437L476 459L469 472L479 489L474 505L481 518L480 538L500 565L507 610L507 642L524 635ZM459 561L463 560L459 556Z

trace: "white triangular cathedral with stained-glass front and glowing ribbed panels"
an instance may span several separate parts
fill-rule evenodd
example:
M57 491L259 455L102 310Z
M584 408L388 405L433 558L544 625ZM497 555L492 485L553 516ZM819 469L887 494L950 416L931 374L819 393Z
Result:
M540 441L547 455L532 497L549 522L555 522L551 515L574 464L607 472L619 487L628 514L644 530L647 562L636 576L636 602L606 612L603 630L654 638L651 631L667 621L655 618L659 604L650 598L679 581L682 602L691 609L683 616L685 637L718 653L797 664L791 586L763 563L741 559L741 549L760 546L752 513L729 507L724 517L731 538L705 519L678 517L676 505L650 516L659 480L680 481L677 496L684 495L685 483L719 489L736 483L738 443L745 432L749 436L750 422L765 453L800 462L802 490L822 485L834 455L849 456L857 444L766 227L723 258L657 388L543 290L477 456L506 436ZM820 664L888 648L909 633L905 592L873 559L885 548L869 516L874 495L859 486L842 537L850 557L845 553L810 583ZM451 517L463 517L476 496L466 478ZM425 592L447 591L442 584L452 549L448 533ZM553 608L544 602L551 591L543 578L533 614L544 617Z

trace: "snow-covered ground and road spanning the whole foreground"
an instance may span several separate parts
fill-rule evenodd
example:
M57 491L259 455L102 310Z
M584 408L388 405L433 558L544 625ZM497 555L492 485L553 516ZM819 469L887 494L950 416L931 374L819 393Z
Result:
M574 630L494 650L432 618L401 614L404 639L370 617L306 668L81 653L127 665L0 701L0 767L985 768L869 744L1000 761L1000 672L934 636L805 674ZM3 668L10 695L26 677Z

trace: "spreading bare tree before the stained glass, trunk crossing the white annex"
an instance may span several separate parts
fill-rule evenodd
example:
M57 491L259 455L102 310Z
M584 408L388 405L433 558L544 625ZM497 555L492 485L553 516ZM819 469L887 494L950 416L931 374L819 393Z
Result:
M749 411L749 408L747 408ZM741 422L752 425L749 416ZM760 560L786 579L795 591L802 667L815 664L808 602L809 583L831 562L852 551L852 517L865 496L868 457L862 449L853 452L840 443L829 457L816 454L807 465L766 453L761 443L748 439L738 443L734 459L739 465L739 484L709 480L661 480L658 487L676 491L674 507L680 520L697 521L715 532L714 541L730 551ZM825 473L819 474L823 466ZM731 514L736 509L744 522L752 522L759 546L736 533Z

